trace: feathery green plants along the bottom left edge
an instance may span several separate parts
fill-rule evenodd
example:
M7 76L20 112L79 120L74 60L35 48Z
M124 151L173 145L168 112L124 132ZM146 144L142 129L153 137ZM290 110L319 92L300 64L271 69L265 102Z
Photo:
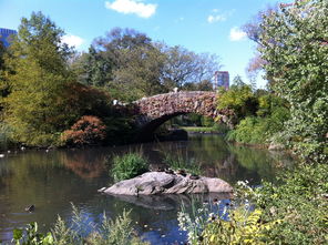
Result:
M147 245L134 235L129 212L115 220L105 215L100 225L90 223L84 214L73 206L72 223L58 218L53 229L47 234L38 231L38 224L31 223L23 229L13 231L13 242L23 245Z

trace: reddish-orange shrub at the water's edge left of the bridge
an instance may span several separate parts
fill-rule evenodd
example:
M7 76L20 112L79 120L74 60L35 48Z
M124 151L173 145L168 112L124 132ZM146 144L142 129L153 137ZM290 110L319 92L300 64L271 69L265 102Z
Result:
M65 144L96 145L106 136L106 126L93 115L83 115L72 127L62 134Z

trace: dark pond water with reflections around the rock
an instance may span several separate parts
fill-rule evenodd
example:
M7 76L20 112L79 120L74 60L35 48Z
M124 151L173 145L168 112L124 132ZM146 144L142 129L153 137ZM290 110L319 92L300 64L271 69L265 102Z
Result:
M137 203L96 192L111 183L106 159L130 151L142 151L153 165L161 164L165 154L180 155L199 164L205 175L232 184L248 180L257 185L263 178L271 180L283 165L293 164L281 152L228 144L219 135L116 147L12 151L0 159L0 241L10 241L13 228L34 221L41 231L48 231L58 215L70 218L73 203L95 222L104 212L115 217L131 210L135 228L145 241L156 245L183 242L186 234L178 231L176 221L181 198L167 197L157 205L155 201ZM24 211L30 204L35 205L33 213Z

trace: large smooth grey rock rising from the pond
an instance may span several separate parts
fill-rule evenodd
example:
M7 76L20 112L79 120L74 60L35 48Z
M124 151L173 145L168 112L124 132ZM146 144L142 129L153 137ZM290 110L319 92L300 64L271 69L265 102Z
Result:
M194 180L191 175L147 172L101 191L112 195L199 194L230 193L233 187L221 178L199 176Z

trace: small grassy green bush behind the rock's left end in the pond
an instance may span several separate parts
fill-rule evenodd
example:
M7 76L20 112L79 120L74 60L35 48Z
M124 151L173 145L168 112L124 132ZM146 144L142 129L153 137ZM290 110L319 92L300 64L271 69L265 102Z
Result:
M148 171L148 162L142 153L127 153L113 159L112 177L115 182L129 180Z

